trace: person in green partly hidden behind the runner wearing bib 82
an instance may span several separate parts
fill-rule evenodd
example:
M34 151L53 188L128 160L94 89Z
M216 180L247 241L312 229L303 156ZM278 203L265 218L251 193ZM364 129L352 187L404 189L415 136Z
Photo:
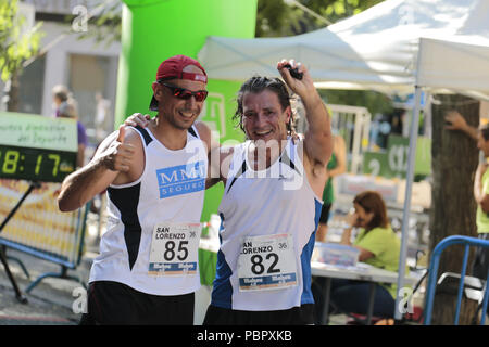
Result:
M328 180L323 191L323 208L321 210L319 226L317 227L316 241L326 242L328 220L331 205L335 200L333 178L347 172L347 145L340 134L333 136L333 154L326 166Z

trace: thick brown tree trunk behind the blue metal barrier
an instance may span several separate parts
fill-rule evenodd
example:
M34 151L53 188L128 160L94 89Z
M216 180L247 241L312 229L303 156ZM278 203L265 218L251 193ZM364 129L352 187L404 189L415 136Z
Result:
M478 165L477 143L462 131L447 130L444 113L456 110L468 125L479 125L479 102L460 94L439 94L435 99L441 104L432 104L432 205L430 209L430 253L435 246L450 235L477 236L476 209L473 187ZM444 272L461 273L464 247L447 248L440 259L438 278ZM467 274L474 249L467 264ZM457 287L457 286L456 286ZM437 294L432 324L453 324L456 295ZM477 303L463 299L459 324L469 324Z

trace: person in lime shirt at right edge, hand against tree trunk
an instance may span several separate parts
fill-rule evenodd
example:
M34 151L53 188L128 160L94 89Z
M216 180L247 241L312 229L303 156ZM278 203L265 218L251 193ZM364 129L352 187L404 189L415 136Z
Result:
M467 125L465 118L456 111L449 111L444 120L448 130L460 130L477 141L477 147L484 154L484 160L479 163L474 179L474 198L477 202L477 234L480 240L489 240L489 124L479 129ZM486 280L489 271L489 248L477 247L472 264L472 275Z

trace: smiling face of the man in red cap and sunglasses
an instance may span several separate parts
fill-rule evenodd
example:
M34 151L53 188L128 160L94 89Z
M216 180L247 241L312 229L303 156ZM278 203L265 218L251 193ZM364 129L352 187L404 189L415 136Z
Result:
M184 72L202 74L202 70L193 65L186 66ZM190 91L205 90L206 87L204 82L188 79L171 79L164 83ZM153 83L153 90L159 104L159 114L175 128L190 128L202 111L204 101L197 101L195 97L178 99L173 95L170 88L156 82Z

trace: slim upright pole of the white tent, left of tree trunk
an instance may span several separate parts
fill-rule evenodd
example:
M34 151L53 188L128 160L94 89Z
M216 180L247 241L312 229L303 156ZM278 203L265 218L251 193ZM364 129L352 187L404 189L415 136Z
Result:
M414 90L414 110L413 117L411 118L410 128L410 150L408 155L408 172L405 175L405 200L404 209L402 213L402 234L401 234L401 255L399 257L399 277L398 277L398 294L396 297L396 308L394 308L394 319L400 321L402 314L405 312L404 304L405 298L401 295L405 292L402 291L404 286L404 275L405 275L405 264L408 258L408 233L410 227L410 215L411 215L411 192L413 188L414 180L414 163L416 157L416 142L417 132L419 125L419 110L421 110L421 94L422 89L419 86L415 86ZM410 297L409 299L412 299ZM411 307L411 306L409 306Z

